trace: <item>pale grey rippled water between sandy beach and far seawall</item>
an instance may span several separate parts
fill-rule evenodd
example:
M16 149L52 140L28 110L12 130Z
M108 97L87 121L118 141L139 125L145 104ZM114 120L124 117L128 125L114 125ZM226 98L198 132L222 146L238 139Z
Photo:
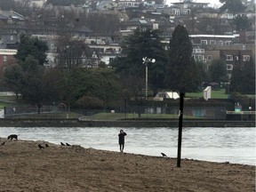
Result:
M118 151L120 127L93 128L0 128L0 137L20 134L20 140L68 142L84 148ZM256 165L255 128L183 128L181 158ZM177 157L178 128L124 128L124 152Z

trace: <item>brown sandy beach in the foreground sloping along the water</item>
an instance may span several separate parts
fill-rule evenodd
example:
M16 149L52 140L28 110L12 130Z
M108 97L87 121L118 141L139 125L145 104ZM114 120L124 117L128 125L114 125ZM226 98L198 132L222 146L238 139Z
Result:
M255 191L255 166L0 138L0 191ZM42 143L44 148L38 148ZM49 148L45 148L45 143ZM72 143L70 143L72 144ZM159 154L160 155L160 154Z

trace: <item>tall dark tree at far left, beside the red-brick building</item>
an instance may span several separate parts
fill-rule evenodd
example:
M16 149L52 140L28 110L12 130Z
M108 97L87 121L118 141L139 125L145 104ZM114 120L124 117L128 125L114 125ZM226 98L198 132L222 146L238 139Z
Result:
M18 52L15 55L17 64L6 68L5 81L23 100L35 104L40 113L44 94L44 63L46 62L47 45L35 37L21 36Z

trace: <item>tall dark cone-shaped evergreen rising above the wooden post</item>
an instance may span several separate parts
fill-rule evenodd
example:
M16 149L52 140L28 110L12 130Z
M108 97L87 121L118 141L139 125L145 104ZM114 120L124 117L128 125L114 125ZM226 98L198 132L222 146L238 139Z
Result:
M188 31L183 26L177 26L172 33L168 59L164 79L166 87L172 91L198 91L201 78L192 58Z

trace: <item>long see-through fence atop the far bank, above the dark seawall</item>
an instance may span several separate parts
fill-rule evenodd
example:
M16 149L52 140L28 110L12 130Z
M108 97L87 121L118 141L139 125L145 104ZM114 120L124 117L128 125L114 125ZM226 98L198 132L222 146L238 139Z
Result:
M132 106L128 108L67 109L64 106L43 106L37 114L36 106L13 106L4 108L5 118L68 118L84 120L118 120L118 119L178 119L179 107ZM184 107L184 119L226 119L225 107Z

